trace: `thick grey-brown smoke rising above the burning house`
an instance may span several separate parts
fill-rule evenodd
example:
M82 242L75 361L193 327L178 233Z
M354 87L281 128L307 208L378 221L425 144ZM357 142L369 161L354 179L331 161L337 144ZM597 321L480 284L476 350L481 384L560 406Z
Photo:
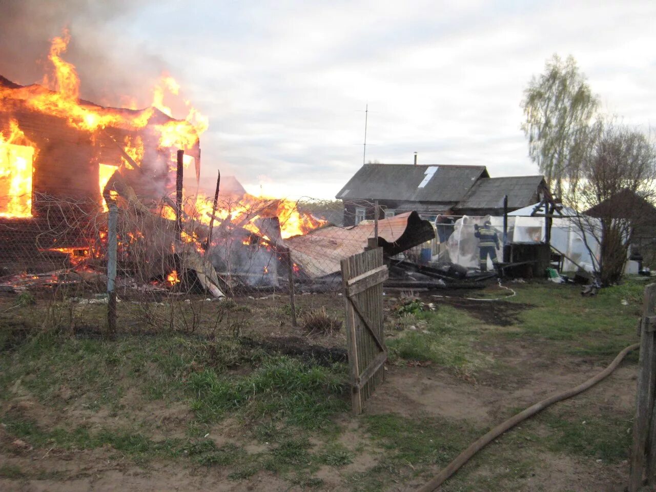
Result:
M123 23L150 0L0 0L0 75L41 83L52 67L50 40L68 28L64 58L77 68L82 98L111 106L150 102L164 62L125 36Z

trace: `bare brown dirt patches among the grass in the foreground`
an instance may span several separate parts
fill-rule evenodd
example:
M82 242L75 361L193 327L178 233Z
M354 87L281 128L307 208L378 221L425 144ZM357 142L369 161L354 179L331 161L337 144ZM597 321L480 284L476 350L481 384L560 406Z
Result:
M518 321L518 314L525 309L522 304L511 302L483 303L464 300L462 292L456 294L460 298L440 298L439 302L455 308L466 310L475 318L487 325L505 327ZM426 302L438 302L438 299L426 296ZM251 300L251 303L267 302ZM311 307L311 297L302 297L300 304ZM335 310L341 307L342 299L333 299ZM483 304L485 304L484 307ZM343 331L341 335L329 338L308 339L298 334L285 323L281 326L268 326L270 337L278 339L280 346L323 346L327 352L321 352L327 360L340 356L343 351ZM263 325L262 325L263 326ZM246 333L248 335L248 333ZM275 343L275 342L271 342ZM333 352L330 350L334 349ZM516 340L513 344L487 346L497 363L514 367L516 378L500 378L493 372L483 372L475 380L463 379L449 371L434 365L400 364L386 367L386 380L366 404L367 415L398 413L403 417L447 417L449 419L466 419L480 426L494 426L512 415L512 411L527 407L546 396L580 384L592 377L604 365L590 361L587 358L558 358L544 354L535 343ZM319 356L321 356L319 354ZM599 411L621 409L626 411L634 404L636 386L635 363L623 364L609 378L588 392L577 397L582 402L593 402ZM20 381L16 382L16 390L20 393ZM64 411L79 411L75 401L66 401L66 388L62 388ZM130 395L126 394L125 403L131 404ZM49 409L43 407L29 396L12 405L29 417L45 424L56 424L55 416ZM14 408L15 409L15 408ZM134 407L134 418L139 415L152 415L159 420L163 435L174 436L176 425L189 412L188 405L162 408L157 402L145 407ZM81 418L89 418L89 413L80 412ZM111 425L108 415L96 415L94 419L99 424ZM348 445L354 445L361 432L361 422L357 417L346 415L344 419L346 431L340 440ZM180 431L182 432L182 431ZM238 431L231 428L230 420L216 426L212 432L217 443L237 440ZM512 431L511 431L512 432ZM535 432L548 432L546 428L536 428ZM501 438L503 440L504 438ZM249 444L253 447L258 443ZM491 447L498 446L492 443ZM505 448L503 448L505 449ZM368 447L358 454L356 460L341 470L322 468L318 472L324 481L323 489L346 491L344 476L349 473L364 471L376 462L378 450ZM17 466L35 470L40 476L37 479L14 480L0 478L2 491L110 491L123 492L146 491L300 491L301 485L290 485L289 482L277 478L270 472L260 471L255 476L243 482L235 482L226 478L226 472L220 467L205 468L176 461L150 461L146 464L135 464L132 460L117 461L112 449L95 449L93 451L62 451L58 449L31 449L26 443L16 442L7 432L0 428L0 462L7 466ZM474 458L474 461L476 457ZM538 466L525 482L527 491L543 492L619 492L624 489L628 465L626 462L609 466L590 458L564 457L551 453L541 453ZM502 457L501 457L502 462ZM438 470L434 470L437 472ZM472 473L485 476L491 472L487 466L476 468ZM61 477L66 477L62 480ZM389 490L413 490L421 481ZM463 489L464 490L464 489ZM468 489L467 489L468 490ZM513 489L514 490L514 489Z

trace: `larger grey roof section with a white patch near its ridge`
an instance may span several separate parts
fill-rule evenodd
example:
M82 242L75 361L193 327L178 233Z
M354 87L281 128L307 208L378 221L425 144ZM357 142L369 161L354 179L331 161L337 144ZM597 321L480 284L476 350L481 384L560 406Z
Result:
M457 202L487 176L485 166L365 164L336 197Z

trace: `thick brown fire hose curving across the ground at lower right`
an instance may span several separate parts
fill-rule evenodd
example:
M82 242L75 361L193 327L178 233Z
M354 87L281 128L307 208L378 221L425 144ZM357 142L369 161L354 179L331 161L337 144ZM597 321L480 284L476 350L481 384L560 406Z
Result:
M588 379L583 384L579 384L579 386L576 386L575 388L570 388L569 390L566 390L564 392L554 394L549 398L546 398L546 400L538 401L534 405L531 405L527 409L521 411L520 413L514 415L513 417L510 417L510 419L506 420L502 424L499 424L498 426L487 432L485 436L482 436L477 441L472 443L467 449L462 451L462 453L460 453L456 457L456 459L451 461L445 468L443 468L439 474L437 474L434 478L432 478L432 480L430 480L430 482L426 483L425 485L422 485L422 487L419 487L419 489L417 489L416 492L433 492L434 490L438 489L438 487L440 487L440 485L445 480L447 480L447 478L449 478L451 475L457 472L463 464L468 462L476 453L478 453L478 451L480 451L481 449L483 449L483 447L491 443L491 441L501 436L501 434L506 432L506 430L509 430L510 428L516 426L523 420L532 417L536 413L543 411L546 407L549 407L550 405L553 405L558 401L567 400L567 398L571 398L572 396L576 396L577 394L582 393L585 390L588 390L589 388L592 388L592 386L594 386L602 379L607 377L610 373L615 371L619 363L621 363L622 359L625 358L626 354L628 354L632 350L635 350L639 346L640 346L639 343L634 343L626 347L624 350L622 350L622 352L617 354L615 359L613 359L613 361L610 363L608 367L604 369L604 371Z

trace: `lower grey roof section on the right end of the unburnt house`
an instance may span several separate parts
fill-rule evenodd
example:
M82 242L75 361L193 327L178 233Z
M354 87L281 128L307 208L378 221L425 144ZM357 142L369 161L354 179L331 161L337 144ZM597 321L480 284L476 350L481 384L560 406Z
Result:
M503 207L504 195L508 195L509 209L532 205L535 201L535 192L543 180L543 176L483 178L469 190L457 208L498 209Z

